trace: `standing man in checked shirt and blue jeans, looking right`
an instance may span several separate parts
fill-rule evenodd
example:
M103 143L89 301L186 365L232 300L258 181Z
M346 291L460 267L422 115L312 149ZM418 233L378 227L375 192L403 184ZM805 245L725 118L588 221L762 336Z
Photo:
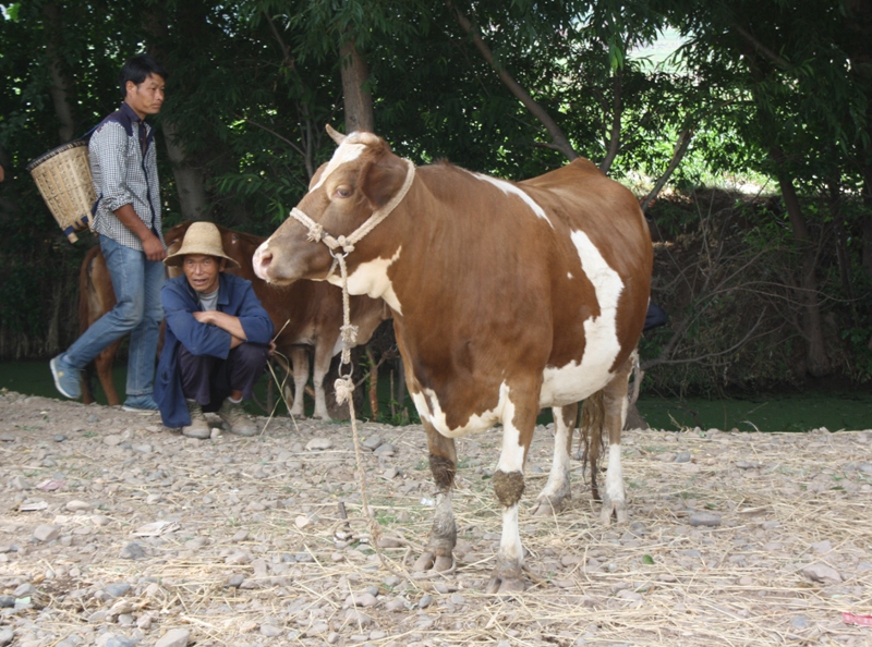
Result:
M160 230L155 132L145 118L160 112L167 76L148 56L130 59L121 69L124 102L90 137L88 157L97 194L93 229L99 234L117 303L51 361L58 391L78 398L82 369L130 332L125 411L157 411L153 391L167 247Z

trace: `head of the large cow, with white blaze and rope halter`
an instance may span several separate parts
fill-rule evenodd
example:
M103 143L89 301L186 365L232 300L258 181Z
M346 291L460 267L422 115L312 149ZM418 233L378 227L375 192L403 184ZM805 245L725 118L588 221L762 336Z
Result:
M324 236L350 236L374 211L388 205L407 180L407 162L390 151L372 133L327 133L339 145L332 159L322 164L308 185L308 193L296 206ZM255 273L270 283L288 284L298 279L324 280L334 268L330 248L294 217L288 218L254 255ZM349 272L360 264L391 253L379 247L377 236L365 236L355 244L347 263ZM337 249L335 253L342 253Z

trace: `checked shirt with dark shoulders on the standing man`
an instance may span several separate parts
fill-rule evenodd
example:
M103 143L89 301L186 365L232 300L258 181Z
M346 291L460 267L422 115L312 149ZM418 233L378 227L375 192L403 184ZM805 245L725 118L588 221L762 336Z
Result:
M144 129L144 156L140 127ZM97 126L88 143L88 159L97 193L92 209L94 231L125 247L142 251L140 237L113 213L124 205L133 205L140 219L162 243L154 131L126 102Z

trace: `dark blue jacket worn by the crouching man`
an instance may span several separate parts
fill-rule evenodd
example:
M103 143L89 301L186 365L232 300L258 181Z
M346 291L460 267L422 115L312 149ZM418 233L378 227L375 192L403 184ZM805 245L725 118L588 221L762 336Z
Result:
M251 281L221 272L218 290L217 309L239 317L246 343L269 344L272 321L254 294ZM160 300L164 303L166 331L164 351L157 365L155 402L160 407L164 425L175 429L191 424L179 374L179 344L192 355L227 359L232 335L217 326L201 324L194 318L193 313L201 310L199 301L184 274L164 283Z

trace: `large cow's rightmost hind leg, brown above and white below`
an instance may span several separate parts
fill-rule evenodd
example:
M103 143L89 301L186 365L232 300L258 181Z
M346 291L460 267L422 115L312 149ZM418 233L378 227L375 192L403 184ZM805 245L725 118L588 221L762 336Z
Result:
M603 388L603 431L608 431L608 468L603 492L600 521L609 524L614 516L618 523L627 521L627 497L623 490L623 471L620 462L620 431L627 418L627 381L633 366L633 356Z

